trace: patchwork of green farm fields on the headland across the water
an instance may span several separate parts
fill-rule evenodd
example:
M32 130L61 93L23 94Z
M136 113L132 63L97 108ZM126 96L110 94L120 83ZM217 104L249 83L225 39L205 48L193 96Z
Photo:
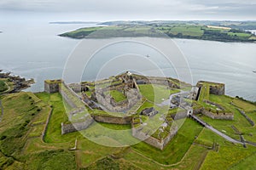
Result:
M72 38L108 38L108 37L177 37L202 39L221 42L253 42L255 36L241 29L204 24L170 23L147 25L111 25L79 28L60 34Z

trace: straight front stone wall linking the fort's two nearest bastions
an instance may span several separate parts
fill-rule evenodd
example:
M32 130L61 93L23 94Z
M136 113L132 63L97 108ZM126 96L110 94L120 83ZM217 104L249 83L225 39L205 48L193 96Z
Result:
M132 121L131 116L114 117L114 116L93 115L92 117L96 122L107 122L107 123L120 124L120 125L131 124L131 121Z

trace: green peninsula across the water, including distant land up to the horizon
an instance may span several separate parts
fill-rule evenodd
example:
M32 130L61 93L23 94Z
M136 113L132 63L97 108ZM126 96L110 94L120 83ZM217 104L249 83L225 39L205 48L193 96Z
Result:
M219 42L255 42L254 21L111 21L60 34L72 38L172 37Z

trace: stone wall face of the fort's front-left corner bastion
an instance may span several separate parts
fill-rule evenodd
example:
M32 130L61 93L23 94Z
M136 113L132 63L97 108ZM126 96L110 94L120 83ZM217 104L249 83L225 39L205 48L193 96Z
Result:
M61 123L61 134L73 133L76 131L84 130L87 127L89 127L90 124L93 122L94 122L94 120L90 117L88 117L88 119L85 120L84 122L74 122L71 124L64 124L62 122Z

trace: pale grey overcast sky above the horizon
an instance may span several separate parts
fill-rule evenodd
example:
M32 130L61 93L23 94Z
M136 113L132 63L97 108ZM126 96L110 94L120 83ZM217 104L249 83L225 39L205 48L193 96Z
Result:
M256 0L0 0L0 20L256 20Z

